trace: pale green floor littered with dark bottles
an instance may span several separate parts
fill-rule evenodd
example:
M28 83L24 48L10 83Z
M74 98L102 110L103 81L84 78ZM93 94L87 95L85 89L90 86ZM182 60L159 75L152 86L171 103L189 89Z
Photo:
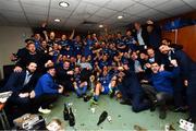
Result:
M63 104L71 104L75 115L75 127L69 126L63 120ZM90 108L95 108L95 112ZM97 126L100 114L106 110L111 116L112 121L106 120ZM44 115L46 121L49 122L53 118L63 121L65 130L134 130L134 126L139 126L146 130L164 130L166 124L172 124L175 130L180 130L179 120L187 118L187 114L168 111L164 120L159 119L158 109L154 112L149 110L135 114L131 110L131 106L121 105L117 99L109 96L100 96L99 105L90 107L90 103L85 103L83 98L77 98L75 94L69 97L61 96L53 105L49 115Z

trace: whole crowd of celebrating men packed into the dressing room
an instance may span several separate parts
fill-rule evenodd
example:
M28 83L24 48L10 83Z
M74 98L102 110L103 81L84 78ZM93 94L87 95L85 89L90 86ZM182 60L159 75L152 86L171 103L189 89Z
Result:
M91 93L90 104L98 104L101 94L120 97L139 112L159 108L188 111L196 121L196 63L182 50L183 46L161 38L161 29L152 21L134 23L134 31L122 36L106 34L86 37L47 34L46 24L28 39L25 47L12 55L15 68L2 91L12 91L8 108L49 114L49 105L59 94L77 97Z

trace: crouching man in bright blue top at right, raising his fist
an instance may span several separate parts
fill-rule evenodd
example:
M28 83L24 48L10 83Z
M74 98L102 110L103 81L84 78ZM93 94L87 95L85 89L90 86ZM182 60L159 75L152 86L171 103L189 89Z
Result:
M148 80L150 85L143 85L143 88L152 104L159 105L159 118L166 118L166 106L167 103L173 99L173 85L172 81L179 75L180 68L177 67L176 60L171 60L171 64L174 66L173 71L160 71L158 62L151 63L152 75ZM143 81L144 82L144 81Z

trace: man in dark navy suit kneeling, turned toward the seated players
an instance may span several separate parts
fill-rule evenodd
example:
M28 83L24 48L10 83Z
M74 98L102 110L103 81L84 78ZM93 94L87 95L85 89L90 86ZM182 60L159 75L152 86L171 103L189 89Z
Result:
M132 104L132 110L139 112L150 107L149 102L144 100L144 92L135 72L131 71L127 64L123 66L124 71L119 73L118 90L122 93L124 102L122 104Z

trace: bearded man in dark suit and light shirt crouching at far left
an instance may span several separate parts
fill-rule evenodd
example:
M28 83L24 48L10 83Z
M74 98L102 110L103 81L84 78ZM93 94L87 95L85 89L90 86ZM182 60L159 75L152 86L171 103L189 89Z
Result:
M35 71L37 63L29 62L26 70L22 72L13 72L10 75L9 81L2 88L2 92L12 91L12 96L8 99L5 110L10 112L9 118L14 119L21 115L28 112L29 110L29 93L35 87L38 80ZM13 107L17 107L17 112L11 112ZM15 109L14 109L15 111Z

